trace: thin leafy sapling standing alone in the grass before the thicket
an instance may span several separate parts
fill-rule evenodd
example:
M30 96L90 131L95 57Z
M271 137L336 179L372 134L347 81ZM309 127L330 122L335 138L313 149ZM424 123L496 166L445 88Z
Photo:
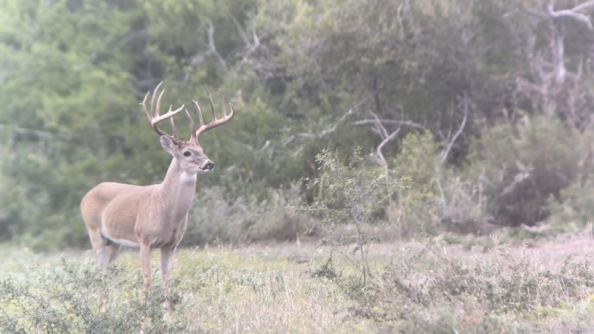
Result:
M308 189L317 189L319 197L311 205L296 208L298 214L307 214L315 218L314 227L323 231L321 246L330 247L356 269L359 277L349 279L355 290L368 284L366 245L378 238L369 236L365 232L365 227L377 221L376 214L384 208L387 199L378 198L377 193L381 193L382 189L384 192L385 189L390 189L394 182L393 175L388 170L359 170L358 164L363 160L361 148L355 149L348 166L340 163L337 152L322 150L316 157L320 164L320 176L306 179ZM337 233L336 227L342 224L352 225L355 233ZM343 252L345 246L350 247L350 250ZM333 270L331 263L329 257L326 265L315 272L315 275L344 282L345 278Z

